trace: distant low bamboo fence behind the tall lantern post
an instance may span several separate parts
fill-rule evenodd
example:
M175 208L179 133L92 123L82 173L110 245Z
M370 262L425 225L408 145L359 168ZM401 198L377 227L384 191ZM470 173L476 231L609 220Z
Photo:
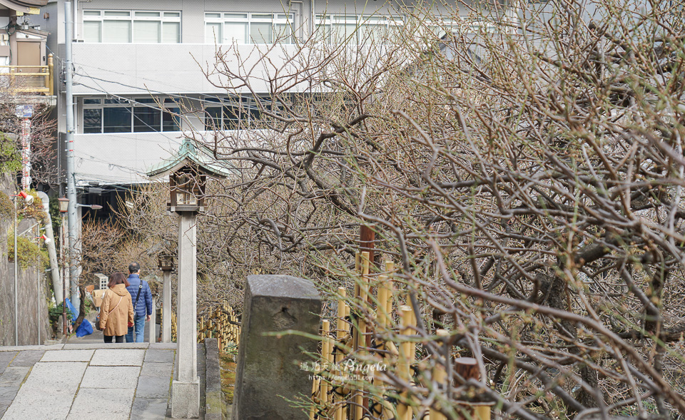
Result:
M219 352L225 352L233 343L238 347L240 343L240 321L233 308L225 304L210 310L209 316L198 320L198 343L205 342L205 338L215 338L219 344ZM171 312L171 341L176 341L176 312Z

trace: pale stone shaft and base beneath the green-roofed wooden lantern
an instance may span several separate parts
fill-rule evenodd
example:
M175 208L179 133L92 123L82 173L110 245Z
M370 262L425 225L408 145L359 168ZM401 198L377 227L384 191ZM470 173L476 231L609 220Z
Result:
M180 212L178 216L178 287L176 290L176 377L171 383L171 416L193 419L200 415L200 378L198 377L197 325L197 216Z

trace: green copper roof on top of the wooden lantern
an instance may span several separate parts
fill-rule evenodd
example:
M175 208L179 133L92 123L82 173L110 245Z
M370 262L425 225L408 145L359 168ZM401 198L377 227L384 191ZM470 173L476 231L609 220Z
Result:
M213 178L226 178L234 172L226 164L216 160L208 148L196 146L193 140L186 138L177 153L148 169L148 177L161 178L184 166L198 168Z

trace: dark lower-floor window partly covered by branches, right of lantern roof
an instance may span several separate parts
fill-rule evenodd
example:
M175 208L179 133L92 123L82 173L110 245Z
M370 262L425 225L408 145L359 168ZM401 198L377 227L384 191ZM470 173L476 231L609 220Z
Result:
M205 130L258 128L261 118L253 98L205 98Z

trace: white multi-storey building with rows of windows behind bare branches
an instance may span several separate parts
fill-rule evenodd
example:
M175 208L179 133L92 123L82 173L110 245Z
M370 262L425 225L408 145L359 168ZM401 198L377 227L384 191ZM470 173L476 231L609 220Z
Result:
M224 129L249 126L250 118L259 118L254 110L240 116L229 108L221 112L217 101L226 93L211 83L216 76L208 80L201 71L213 66L217 48L226 51L235 44L247 57L282 35L287 53L295 51L296 39L322 25L329 33L402 25L402 10L411 6L375 0L89 0L75 1L72 8L76 183L81 193L102 194L103 185L145 182L146 168L178 148L183 130L209 128L210 116ZM51 34L47 47L60 65L64 18L64 1L59 0L31 19ZM61 80L56 81L56 114L59 133L64 133ZM266 86L258 88L267 93ZM243 100L250 108L250 98ZM179 121L172 115L177 101L198 113ZM63 141L64 135L59 137ZM64 147L59 150L64 169ZM108 190L86 201L113 203Z

